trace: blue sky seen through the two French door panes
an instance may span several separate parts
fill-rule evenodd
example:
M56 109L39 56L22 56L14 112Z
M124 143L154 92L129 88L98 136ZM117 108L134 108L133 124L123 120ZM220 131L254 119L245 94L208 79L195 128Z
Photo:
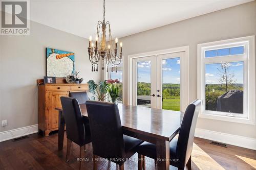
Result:
M151 82L151 63L143 61L137 63L138 82ZM162 60L163 83L180 83L180 58Z

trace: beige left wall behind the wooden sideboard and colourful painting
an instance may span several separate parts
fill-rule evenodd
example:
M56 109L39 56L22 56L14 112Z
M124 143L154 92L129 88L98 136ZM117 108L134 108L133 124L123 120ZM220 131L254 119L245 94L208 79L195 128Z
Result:
M101 79L91 72L87 39L33 21L30 30L30 36L0 36L0 120L8 120L0 132L37 124L36 79L46 76L46 47L74 52L84 82Z

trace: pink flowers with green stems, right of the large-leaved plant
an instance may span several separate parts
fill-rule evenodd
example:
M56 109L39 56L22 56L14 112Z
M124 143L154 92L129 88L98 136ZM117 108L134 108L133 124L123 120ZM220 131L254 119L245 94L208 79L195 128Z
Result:
M112 80L109 79L106 81L107 84L109 84L108 92L111 98L111 101L113 103L116 103L116 100L119 98L118 92L119 92L119 80Z

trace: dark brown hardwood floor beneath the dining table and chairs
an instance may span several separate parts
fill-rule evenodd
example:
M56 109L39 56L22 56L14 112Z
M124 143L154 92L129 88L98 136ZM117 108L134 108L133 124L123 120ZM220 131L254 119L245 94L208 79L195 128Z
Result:
M69 162L65 161L67 139L62 151L58 151L58 135L41 137L38 134L29 138L0 143L0 169L79 169L79 147L72 143ZM93 169L92 145L87 145L83 153L81 169ZM126 161L124 169L137 169L137 154ZM175 169L170 167L171 169ZM113 162L100 161L98 169L118 169ZM146 158L146 169L156 169L153 159ZM208 140L195 138L192 153L192 169L256 169L256 151L228 145L228 148L209 144Z

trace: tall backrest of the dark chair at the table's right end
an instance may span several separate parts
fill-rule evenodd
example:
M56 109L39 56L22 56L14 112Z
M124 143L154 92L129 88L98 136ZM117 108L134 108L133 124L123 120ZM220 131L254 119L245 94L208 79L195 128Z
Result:
M187 106L184 113L176 148L176 156L179 159L180 168L185 167L191 156L200 105L201 101L196 100Z

